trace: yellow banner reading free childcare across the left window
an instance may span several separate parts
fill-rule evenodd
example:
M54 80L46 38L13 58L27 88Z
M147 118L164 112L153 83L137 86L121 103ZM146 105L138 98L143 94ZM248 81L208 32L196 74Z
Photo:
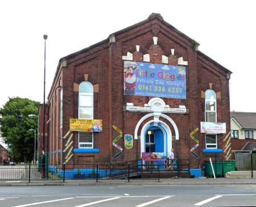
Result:
M69 119L70 131L81 131L86 133L102 132L101 119Z

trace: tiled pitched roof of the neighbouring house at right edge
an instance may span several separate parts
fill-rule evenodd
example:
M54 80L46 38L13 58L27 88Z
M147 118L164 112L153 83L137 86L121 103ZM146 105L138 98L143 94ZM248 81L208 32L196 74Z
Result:
M256 129L256 113L231 111L230 117L236 119L243 129Z

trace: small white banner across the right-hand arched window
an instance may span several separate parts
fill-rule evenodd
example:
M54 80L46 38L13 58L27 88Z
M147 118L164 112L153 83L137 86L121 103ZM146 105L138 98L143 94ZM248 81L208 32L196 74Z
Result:
M201 133L226 134L226 123L201 122Z

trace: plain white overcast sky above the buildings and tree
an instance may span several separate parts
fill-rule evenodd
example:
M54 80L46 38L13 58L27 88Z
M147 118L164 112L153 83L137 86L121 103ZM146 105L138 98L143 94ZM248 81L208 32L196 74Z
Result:
M0 107L9 97L43 102L61 57L108 38L151 13L200 43L199 50L233 72L230 110L255 109L256 1L1 1Z

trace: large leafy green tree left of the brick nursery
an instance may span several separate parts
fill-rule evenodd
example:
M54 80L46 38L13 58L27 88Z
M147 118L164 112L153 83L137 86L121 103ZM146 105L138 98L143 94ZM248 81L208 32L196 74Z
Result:
M16 162L32 160L34 154L34 131L37 119L28 117L38 114L39 102L28 98L9 98L0 108L0 131Z

